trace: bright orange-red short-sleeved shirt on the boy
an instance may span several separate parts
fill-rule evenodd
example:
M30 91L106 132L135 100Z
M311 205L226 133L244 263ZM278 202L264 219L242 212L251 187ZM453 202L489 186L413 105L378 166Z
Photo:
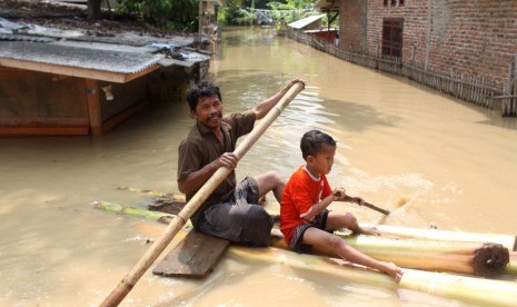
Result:
M280 204L280 231L287 245L292 238L295 228L308 222L304 217L310 212L312 205L331 194L332 190L324 174L316 178L306 166L301 166L291 175Z

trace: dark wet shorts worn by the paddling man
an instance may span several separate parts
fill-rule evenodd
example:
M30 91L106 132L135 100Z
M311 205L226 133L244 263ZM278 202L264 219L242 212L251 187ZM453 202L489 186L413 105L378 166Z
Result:
M203 212L197 229L203 234L250 246L269 246L274 220L258 204L257 181L246 177L228 202L211 206Z

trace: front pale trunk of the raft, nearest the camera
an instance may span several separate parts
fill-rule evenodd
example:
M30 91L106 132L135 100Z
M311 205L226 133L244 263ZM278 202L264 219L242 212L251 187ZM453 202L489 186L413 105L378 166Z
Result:
M173 215L166 212L125 207L118 204L105 201L95 201L93 206L99 209L149 220L157 220L163 224L170 222L170 220L175 217ZM187 226L187 228L181 230L181 232L183 232L182 235L185 236L189 228ZM406 241L406 239L399 240ZM279 248L281 247L282 241L284 240L277 239L277 244L275 244L274 240L274 247L266 249L230 245L227 252L253 261L286 265L298 269L318 271L319 274L329 274L347 280L359 281L368 285L381 286L390 289L404 288L422 291L431 296L451 298L477 305L515 306L515 301L517 301L517 280L515 278L510 278L510 280L500 280L471 277L460 274L405 268L401 281L396 284L387 275L349 264L341 259L318 255L301 255ZM433 242L433 240L427 240L427 242ZM510 256L510 260L511 259L514 261L516 260L516 258L511 258ZM505 271L505 274L508 274L508 271Z

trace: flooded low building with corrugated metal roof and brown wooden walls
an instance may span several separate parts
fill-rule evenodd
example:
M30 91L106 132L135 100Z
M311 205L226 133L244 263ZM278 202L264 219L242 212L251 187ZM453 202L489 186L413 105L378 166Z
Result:
M98 136L153 99L178 99L208 70L192 42L0 19L0 135Z

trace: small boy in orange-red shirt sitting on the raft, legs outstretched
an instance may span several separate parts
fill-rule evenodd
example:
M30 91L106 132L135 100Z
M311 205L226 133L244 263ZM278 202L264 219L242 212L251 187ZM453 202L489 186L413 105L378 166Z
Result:
M348 261L377 269L400 281L402 270L395 264L376 260L348 246L331 232L348 228L355 234L378 235L376 228L360 228L350 212L327 210L336 200L345 200L344 187L334 190L326 175L331 170L336 155L336 141L327 133L311 130L300 142L306 165L298 168L287 182L280 206L280 230L290 249L307 251L311 246L331 248Z

